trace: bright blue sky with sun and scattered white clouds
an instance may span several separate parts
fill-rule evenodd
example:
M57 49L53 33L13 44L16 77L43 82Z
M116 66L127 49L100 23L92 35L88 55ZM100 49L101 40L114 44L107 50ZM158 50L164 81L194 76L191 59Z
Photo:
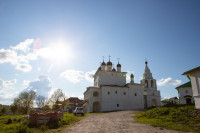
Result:
M199 66L199 16L198 0L1 0L0 104L30 89L83 98L109 55L135 82L146 58L162 98L177 96Z

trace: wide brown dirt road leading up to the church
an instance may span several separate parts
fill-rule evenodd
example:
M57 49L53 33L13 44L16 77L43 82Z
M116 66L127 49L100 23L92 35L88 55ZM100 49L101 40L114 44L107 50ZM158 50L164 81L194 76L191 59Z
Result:
M132 118L135 114L137 114L136 111L92 114L67 128L63 133L178 133L140 124Z

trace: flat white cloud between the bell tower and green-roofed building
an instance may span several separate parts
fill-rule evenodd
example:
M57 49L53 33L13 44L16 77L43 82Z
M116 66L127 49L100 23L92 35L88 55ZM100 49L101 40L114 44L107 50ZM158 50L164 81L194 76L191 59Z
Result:
M162 79L157 81L157 85L158 86L165 86L165 85L174 85L174 86L176 86L176 85L179 85L181 83L182 83L181 80L178 80L178 79L172 80L171 77L168 77L166 79L162 78Z

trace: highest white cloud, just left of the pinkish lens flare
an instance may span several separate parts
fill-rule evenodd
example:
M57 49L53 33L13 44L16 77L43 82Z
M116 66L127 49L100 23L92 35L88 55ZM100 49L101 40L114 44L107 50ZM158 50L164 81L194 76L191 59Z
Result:
M14 47L11 46L10 48L12 48L13 50L20 50L23 52L28 52L28 51L30 51L30 46L33 42L34 42L34 39L26 39L25 41L20 42L19 44L17 44Z

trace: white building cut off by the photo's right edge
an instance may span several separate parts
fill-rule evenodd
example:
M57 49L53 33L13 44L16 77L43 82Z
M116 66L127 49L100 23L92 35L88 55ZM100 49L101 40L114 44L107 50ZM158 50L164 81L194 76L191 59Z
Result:
M195 106L200 109L200 66L184 72L183 75L190 77Z

